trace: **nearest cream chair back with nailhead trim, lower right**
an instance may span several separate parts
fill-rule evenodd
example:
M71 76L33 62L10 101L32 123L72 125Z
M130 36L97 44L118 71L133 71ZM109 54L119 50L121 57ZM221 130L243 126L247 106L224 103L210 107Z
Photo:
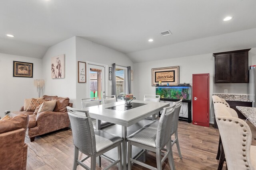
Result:
M222 145L229 170L255 170L256 147L251 146L252 133L245 121L237 117L218 116Z

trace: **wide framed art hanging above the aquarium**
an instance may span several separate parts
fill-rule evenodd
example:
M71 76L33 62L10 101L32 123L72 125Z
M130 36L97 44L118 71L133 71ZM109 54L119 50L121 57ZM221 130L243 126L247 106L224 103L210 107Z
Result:
M179 66L152 68L151 69L152 86L156 86L160 81L166 85L179 84Z

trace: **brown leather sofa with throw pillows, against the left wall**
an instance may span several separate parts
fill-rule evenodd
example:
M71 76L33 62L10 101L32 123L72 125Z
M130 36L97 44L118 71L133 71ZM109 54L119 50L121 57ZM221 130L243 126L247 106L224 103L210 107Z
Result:
M33 115L34 111L24 111L24 106L20 111L13 111L10 113L11 117L20 114L29 115L28 130L26 135L33 142L36 136L43 135L59 129L68 130L70 121L67 113L67 106L72 107L73 104L69 103L69 98L59 98L58 96L43 96L46 100L56 100L56 106L53 111L43 111L37 115Z

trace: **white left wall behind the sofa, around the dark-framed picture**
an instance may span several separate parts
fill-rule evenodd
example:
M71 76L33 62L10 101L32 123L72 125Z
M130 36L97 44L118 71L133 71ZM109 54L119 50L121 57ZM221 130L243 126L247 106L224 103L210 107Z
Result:
M13 61L33 63L33 78L13 77ZM37 98L34 79L42 79L42 59L0 53L0 117L19 111L25 98Z

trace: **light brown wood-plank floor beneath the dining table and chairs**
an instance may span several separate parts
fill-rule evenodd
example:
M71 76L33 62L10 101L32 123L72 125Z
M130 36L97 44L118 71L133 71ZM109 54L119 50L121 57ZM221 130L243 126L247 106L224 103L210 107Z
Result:
M176 145L173 147L174 163L176 170L216 170L218 160L219 132L213 127L202 127L192 123L179 122L178 136L182 159L178 156ZM25 139L28 144L27 170L70 170L73 166L73 139L72 131L56 131L47 135L36 137L34 142ZM252 141L256 145L256 140ZM79 158L85 158L80 153ZM156 166L155 154L148 152L146 163ZM86 164L90 165L86 160ZM109 162L102 160L102 168L96 166L96 170L106 167ZM170 170L168 159L163 164L164 170ZM83 170L78 166L78 170ZM112 168L117 170L118 167ZM133 165L134 170L146 170L139 165ZM224 163L223 169L226 169Z

